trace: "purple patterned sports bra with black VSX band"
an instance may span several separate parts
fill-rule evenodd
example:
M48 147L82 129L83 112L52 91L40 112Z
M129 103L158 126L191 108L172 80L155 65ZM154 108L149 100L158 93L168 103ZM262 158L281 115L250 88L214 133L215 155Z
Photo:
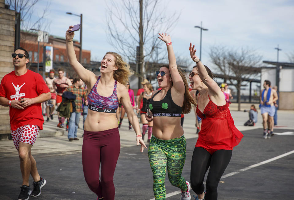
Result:
M111 96L105 97L100 96L97 92L97 85L101 76L98 77L95 85L92 87L88 95L88 108L92 111L97 112L107 112L107 113L116 113L117 108L119 107L119 100L116 94L116 80L114 82L113 93Z

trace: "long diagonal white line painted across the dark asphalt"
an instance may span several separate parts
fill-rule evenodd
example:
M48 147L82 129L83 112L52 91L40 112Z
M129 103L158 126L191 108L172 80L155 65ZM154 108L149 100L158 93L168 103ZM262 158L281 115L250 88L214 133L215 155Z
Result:
M260 166L260 165L264 165L264 164L266 164L266 163L269 163L269 162L272 162L272 161L274 161L274 160L277 160L277 159L283 158L283 157L285 157L285 156L287 156L287 155L290 155L290 154L293 154L293 153L294 153L294 150L289 151L289 152L287 152L287 153L285 153L285 154L278 155L278 156L276 156L276 157L270 158L270 159L265 160L265 161L262 161L262 162L260 162L260 163L257 163L257 164L254 164L254 165L250 165L249 167L245 167L245 168L243 168L243 169L239 169L238 171L228 173L228 174L222 176L220 179L227 178L227 177L229 177L229 176L233 176L233 175L238 174L238 173L240 173L240 172L245 172L245 171L247 171L248 169L252 169L252 168L254 168L254 167L258 167L258 166ZM204 184L205 184L205 182L204 182ZM177 195L177 194L180 194L180 193L181 193L181 191L175 191L175 192L168 193L168 194L166 194L166 198L171 197L171 196L174 196L174 195ZM150 200L155 200L155 198L152 198L152 199L150 199Z

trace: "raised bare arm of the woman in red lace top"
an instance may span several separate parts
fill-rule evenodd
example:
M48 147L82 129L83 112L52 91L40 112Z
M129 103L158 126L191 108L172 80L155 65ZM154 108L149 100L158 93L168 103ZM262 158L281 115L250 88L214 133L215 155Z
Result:
M220 98L223 98L224 93L221 91L217 83L212 78L210 78L201 60L198 58L198 56L196 56L196 49L194 48L195 48L195 45L192 46L192 43L190 43L190 47L189 47L190 56L192 60L196 63L198 74L201 80L203 81L203 83L208 87L210 96L213 95L213 96L218 96Z

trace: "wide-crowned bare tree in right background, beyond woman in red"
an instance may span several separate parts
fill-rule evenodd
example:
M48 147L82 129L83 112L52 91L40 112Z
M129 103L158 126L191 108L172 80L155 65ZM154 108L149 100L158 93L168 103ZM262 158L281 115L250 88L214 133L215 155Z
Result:
M209 53L212 63L217 70L224 75L231 85L237 89L238 111L240 111L241 95L240 89L244 79L256 76L261 66L262 56L258 55L253 49L241 48L228 49L224 46L213 46ZM237 84L234 84L236 80ZM250 91L251 92L251 91Z

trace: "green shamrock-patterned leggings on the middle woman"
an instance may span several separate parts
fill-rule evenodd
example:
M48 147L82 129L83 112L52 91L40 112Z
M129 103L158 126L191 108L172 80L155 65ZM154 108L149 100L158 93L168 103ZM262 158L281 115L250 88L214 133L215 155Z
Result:
M160 140L152 136L148 148L149 163L153 172L153 192L156 200L165 200L165 173L168 180L182 191L187 190L182 170L186 160L186 138L181 136L171 140Z

